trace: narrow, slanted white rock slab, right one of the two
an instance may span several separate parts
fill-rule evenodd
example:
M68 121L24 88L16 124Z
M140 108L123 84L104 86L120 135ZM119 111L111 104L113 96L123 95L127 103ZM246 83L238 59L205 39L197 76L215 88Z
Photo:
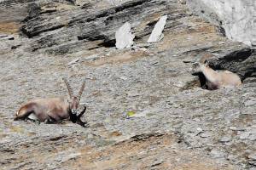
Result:
M166 20L167 15L164 15L160 18L160 20L154 26L154 30L152 31L150 37L148 38L148 42L159 42L164 37L162 31L166 26Z

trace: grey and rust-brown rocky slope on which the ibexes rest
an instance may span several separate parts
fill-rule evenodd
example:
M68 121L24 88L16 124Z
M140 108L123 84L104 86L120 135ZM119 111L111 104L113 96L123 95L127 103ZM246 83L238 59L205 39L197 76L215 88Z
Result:
M3 0L0 8L1 168L255 169L255 50L183 1ZM163 14L164 39L145 43ZM126 21L135 45L117 50L114 32ZM191 63L204 54L242 86L202 89ZM61 77L74 89L86 79L90 127L13 121L28 99L67 95Z

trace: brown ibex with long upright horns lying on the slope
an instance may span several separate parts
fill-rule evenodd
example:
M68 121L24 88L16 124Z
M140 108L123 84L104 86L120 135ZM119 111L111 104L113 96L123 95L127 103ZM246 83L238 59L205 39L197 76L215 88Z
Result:
M84 106L84 110L79 114L78 108L81 95L84 91L85 81L79 90L79 95L74 96L73 90L67 82L67 79L62 79L67 86L67 91L70 97L69 99L64 97L33 99L20 107L14 120L28 119L45 123L57 123L69 118L71 122L78 123L84 127L86 122L82 122L80 118L84 115L86 107Z

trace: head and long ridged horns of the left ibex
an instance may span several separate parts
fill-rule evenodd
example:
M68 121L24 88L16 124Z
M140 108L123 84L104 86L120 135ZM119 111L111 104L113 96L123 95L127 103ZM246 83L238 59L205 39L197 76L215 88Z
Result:
M82 96L83 91L84 91L85 81L83 82L82 87L79 90L79 94L77 96L75 96L73 94L72 88L70 87L70 84L67 82L67 79L66 78L62 78L62 79L63 79L63 81L65 82L65 84L67 86L67 91L68 91L68 94L69 94L69 101L68 102L69 102L69 108L71 110L71 113L72 113L73 116L77 116L78 108L79 108L79 102L80 102L81 96Z

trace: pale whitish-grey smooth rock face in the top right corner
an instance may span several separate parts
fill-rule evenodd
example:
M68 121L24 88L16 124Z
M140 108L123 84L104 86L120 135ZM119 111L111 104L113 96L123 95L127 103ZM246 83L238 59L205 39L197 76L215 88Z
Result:
M256 46L256 3L254 0L188 0L189 7L201 16L223 26L231 40Z

